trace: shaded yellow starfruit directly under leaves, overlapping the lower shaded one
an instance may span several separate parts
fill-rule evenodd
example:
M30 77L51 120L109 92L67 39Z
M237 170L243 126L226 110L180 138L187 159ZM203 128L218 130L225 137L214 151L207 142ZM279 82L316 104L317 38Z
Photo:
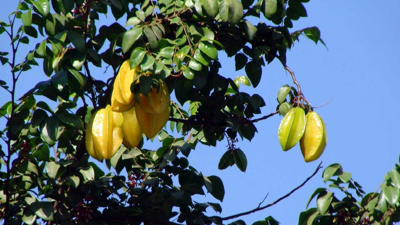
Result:
M159 114L170 106L170 92L165 82L160 82L160 88L151 88L147 96L144 94L139 95L138 104L142 109L149 113Z

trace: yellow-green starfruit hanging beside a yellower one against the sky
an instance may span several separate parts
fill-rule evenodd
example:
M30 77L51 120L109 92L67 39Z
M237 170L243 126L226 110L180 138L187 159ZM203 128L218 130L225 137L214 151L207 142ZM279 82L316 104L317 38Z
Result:
M292 108L283 117L278 129L278 138L283 151L293 148L303 136L306 127L304 109Z

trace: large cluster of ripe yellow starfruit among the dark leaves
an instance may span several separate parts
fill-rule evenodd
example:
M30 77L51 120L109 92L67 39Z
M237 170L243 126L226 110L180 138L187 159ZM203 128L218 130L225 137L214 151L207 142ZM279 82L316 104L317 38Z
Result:
M86 149L97 160L110 159L121 144L136 147L142 134L156 136L170 117L170 93L165 82L151 88L147 95L140 93L135 101L131 84L140 82L140 68L130 69L126 60L114 81L111 105L97 110L86 128Z

